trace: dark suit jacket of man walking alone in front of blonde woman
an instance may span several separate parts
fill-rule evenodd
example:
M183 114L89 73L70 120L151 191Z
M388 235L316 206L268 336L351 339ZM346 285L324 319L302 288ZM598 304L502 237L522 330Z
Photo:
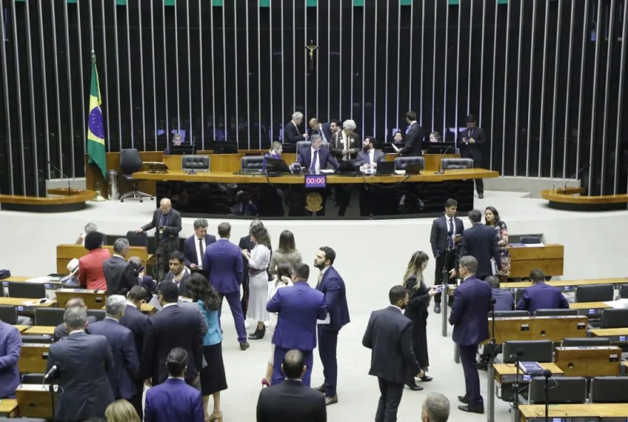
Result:
M412 348L412 321L390 306L370 314L362 344L371 349L369 375L403 384L421 371Z

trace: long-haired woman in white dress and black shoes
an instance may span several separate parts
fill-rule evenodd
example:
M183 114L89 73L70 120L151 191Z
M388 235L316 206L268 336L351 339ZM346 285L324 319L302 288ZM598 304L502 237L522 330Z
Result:
M246 316L258 321L255 332L248 335L251 340L263 339L268 321L266 297L268 295L268 265L270 264L270 237L261 225L250 231L250 240L255 247L250 253L243 249L242 256L248 261L248 310Z

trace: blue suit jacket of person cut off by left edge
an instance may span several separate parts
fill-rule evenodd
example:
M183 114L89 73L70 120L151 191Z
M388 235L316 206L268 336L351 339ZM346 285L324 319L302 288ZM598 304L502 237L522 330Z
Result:
M17 362L21 349L19 330L0 321L0 398L13 396L20 384Z

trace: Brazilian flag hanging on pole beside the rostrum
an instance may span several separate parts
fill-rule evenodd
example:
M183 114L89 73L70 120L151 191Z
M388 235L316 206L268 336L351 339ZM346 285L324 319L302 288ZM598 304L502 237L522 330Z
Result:
M91 88L89 90L89 116L87 118L87 155L88 163L94 163L107 178L107 159L105 155L105 127L101 112L101 87L98 84L96 54L91 54Z

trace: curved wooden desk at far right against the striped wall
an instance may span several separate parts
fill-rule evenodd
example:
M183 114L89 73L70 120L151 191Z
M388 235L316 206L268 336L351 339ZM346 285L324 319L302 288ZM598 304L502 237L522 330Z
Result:
M545 189L541 197L550 201L550 208L567 211L608 211L625 210L628 206L628 195L583 195L584 187L567 187Z

